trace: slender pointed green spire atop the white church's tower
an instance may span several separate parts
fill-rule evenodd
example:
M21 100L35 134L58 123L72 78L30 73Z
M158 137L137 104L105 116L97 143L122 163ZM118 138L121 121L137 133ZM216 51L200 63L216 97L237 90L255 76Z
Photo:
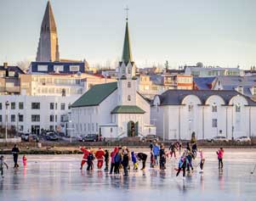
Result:
M131 50L130 38L129 38L128 21L126 21L124 42L123 42L123 48L122 48L122 61L128 64L128 62L132 60L133 58L132 58L132 50Z

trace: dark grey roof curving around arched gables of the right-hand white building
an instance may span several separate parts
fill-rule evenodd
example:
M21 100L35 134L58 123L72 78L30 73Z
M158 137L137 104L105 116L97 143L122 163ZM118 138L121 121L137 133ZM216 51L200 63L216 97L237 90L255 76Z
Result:
M168 90L163 92L158 97L160 98L161 105L181 105L183 99L186 96L195 95L198 97L202 104L205 104L207 99L210 96L217 95L224 99L225 104L230 102L230 99L240 95L247 99L248 105L256 106L256 103L253 102L250 98L243 96L241 93L236 91L225 91L225 90Z

